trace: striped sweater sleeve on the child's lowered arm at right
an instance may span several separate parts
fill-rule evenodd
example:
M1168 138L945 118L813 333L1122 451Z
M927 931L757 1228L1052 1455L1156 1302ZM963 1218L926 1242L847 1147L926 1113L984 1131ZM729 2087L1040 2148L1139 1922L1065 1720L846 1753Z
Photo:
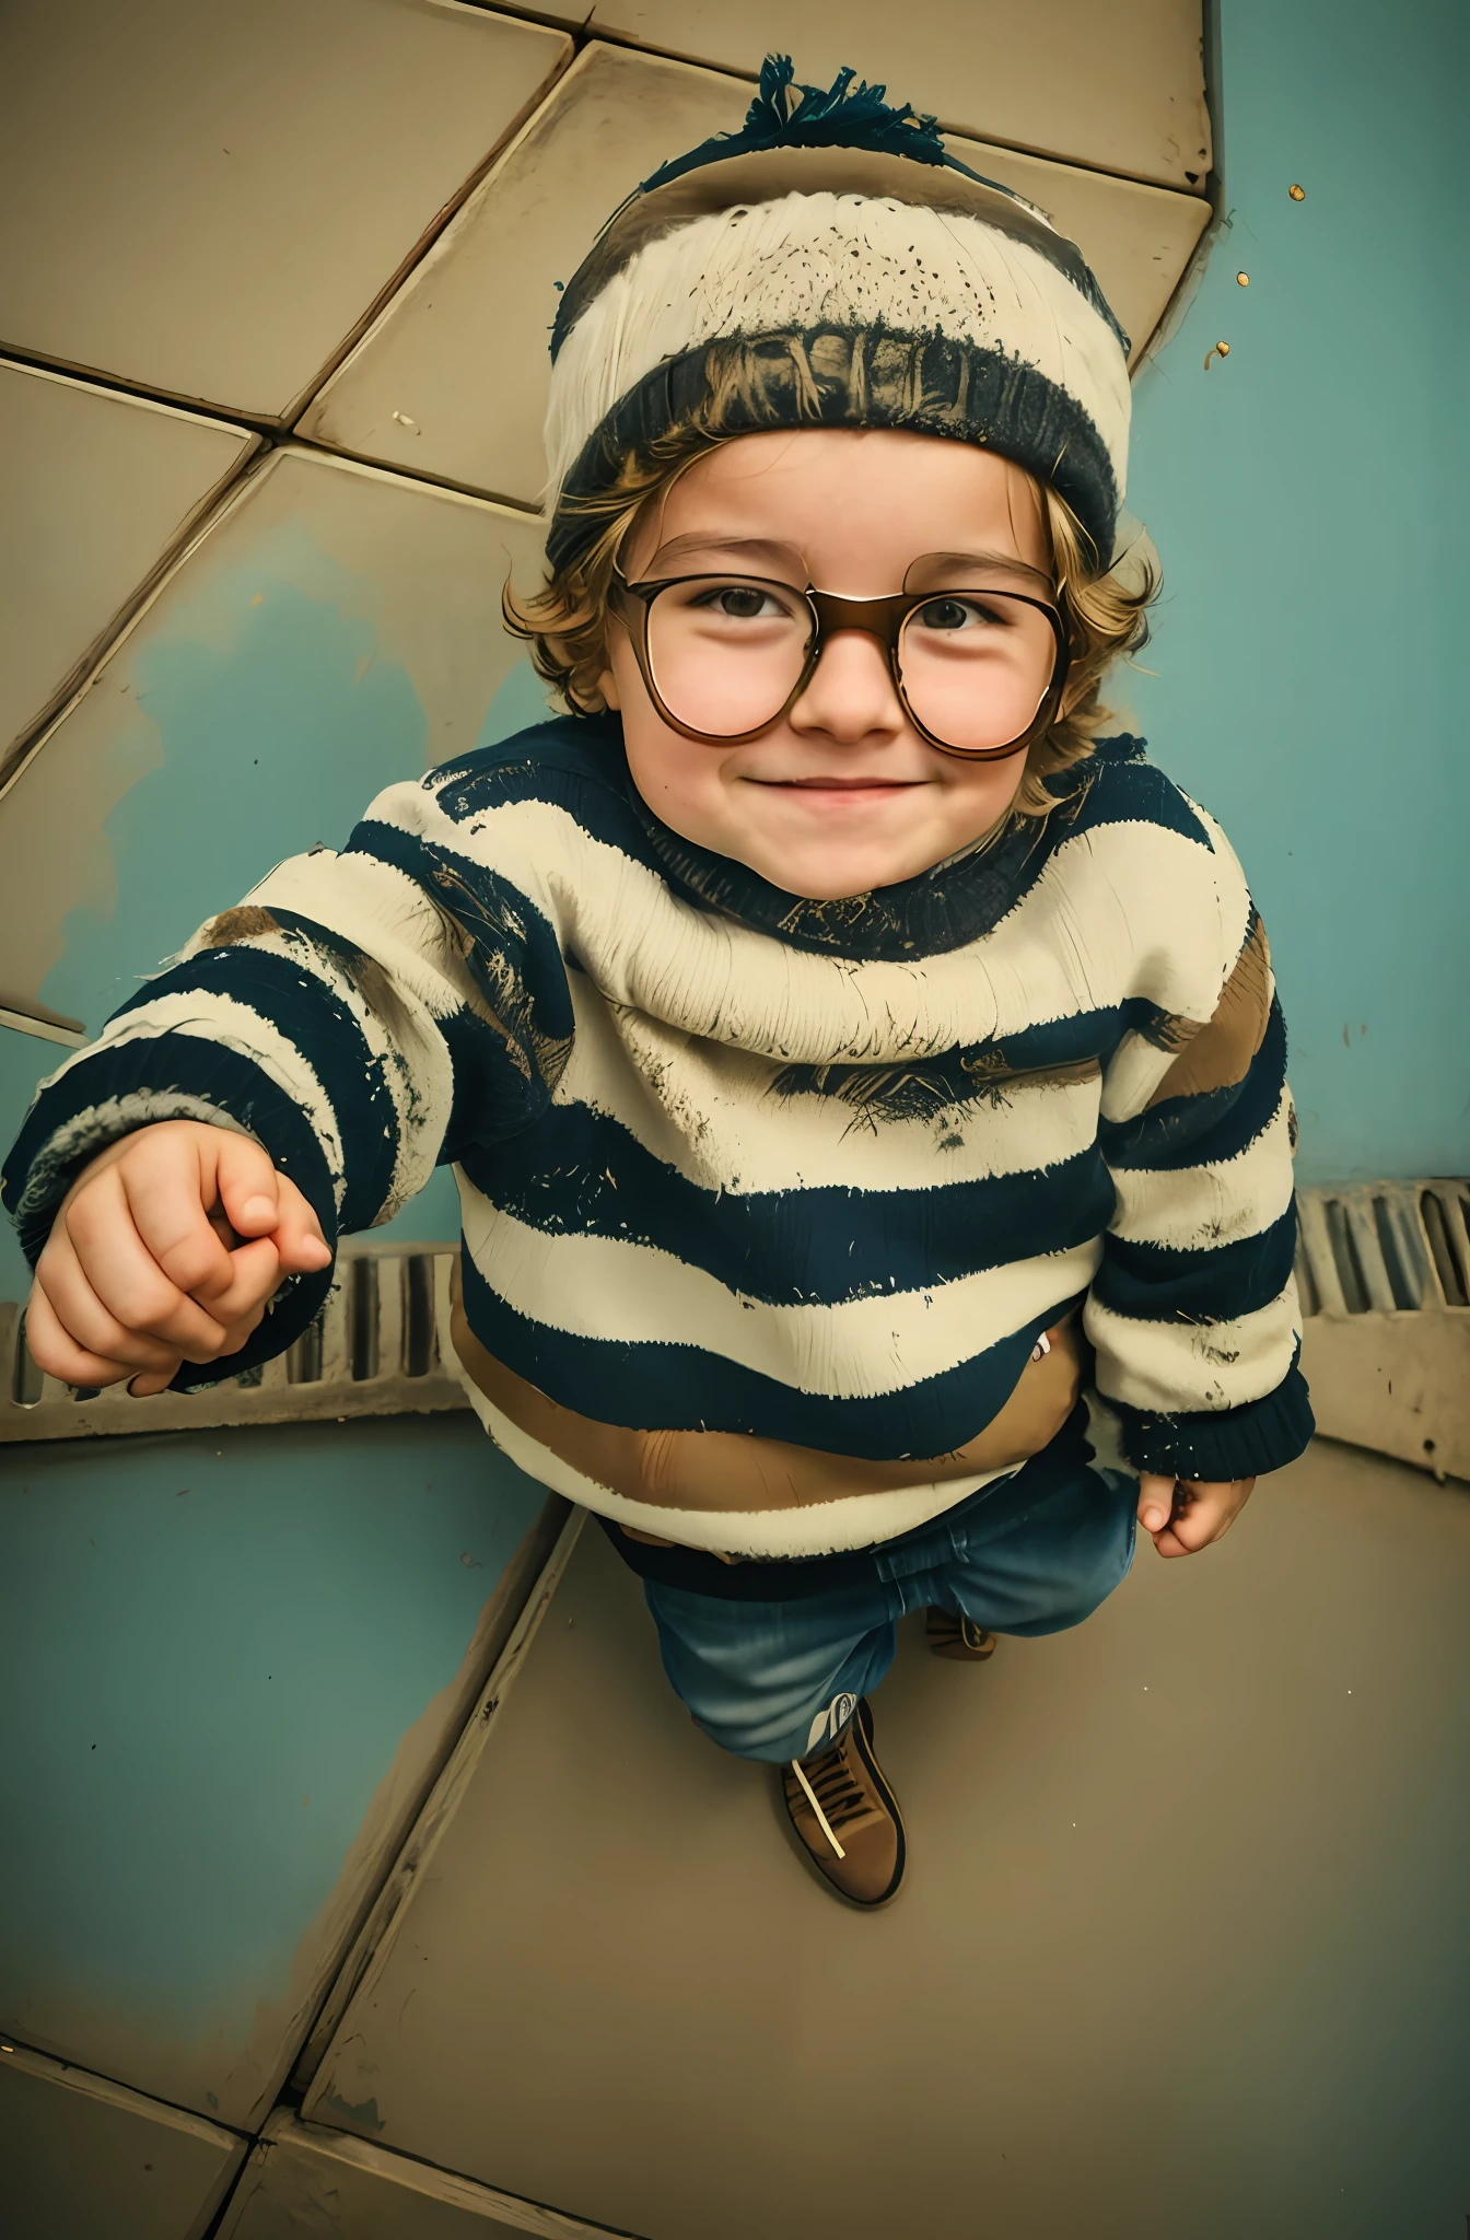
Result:
M1116 1210L1085 1310L1098 1393L1129 1460L1181 1478L1280 1469L1313 1434L1286 1030L1248 898L1244 916L1212 1015L1125 1037L1102 1095Z

